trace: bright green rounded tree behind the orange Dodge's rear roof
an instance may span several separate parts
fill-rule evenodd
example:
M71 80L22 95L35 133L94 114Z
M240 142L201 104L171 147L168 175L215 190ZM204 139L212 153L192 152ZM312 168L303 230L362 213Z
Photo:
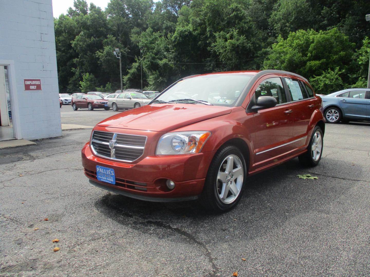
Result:
M337 67L339 71L346 71L353 49L354 44L337 28L320 32L298 30L290 33L286 40L279 36L263 65L265 69L286 70L310 78Z

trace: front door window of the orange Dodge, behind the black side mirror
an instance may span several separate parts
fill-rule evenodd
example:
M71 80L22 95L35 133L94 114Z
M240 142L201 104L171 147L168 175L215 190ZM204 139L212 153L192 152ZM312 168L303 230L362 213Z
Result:
M259 84L255 92L256 99L259 96L272 96L276 99L278 104L286 103L283 83L278 77L269 78Z

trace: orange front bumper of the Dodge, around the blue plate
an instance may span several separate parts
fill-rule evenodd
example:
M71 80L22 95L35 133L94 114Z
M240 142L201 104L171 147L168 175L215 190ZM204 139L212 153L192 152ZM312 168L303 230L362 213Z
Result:
M152 155L136 164L94 156L89 143L85 144L81 154L85 176L93 185L132 198L169 202L196 199L201 194L215 151L190 155ZM115 185L97 180L97 165L114 169ZM167 179L175 182L174 189L166 187Z

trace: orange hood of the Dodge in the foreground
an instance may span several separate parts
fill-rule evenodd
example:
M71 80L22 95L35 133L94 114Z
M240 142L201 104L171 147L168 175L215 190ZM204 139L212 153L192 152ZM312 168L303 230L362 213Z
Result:
M231 107L194 104L156 104L108 117L97 126L168 132L231 112Z

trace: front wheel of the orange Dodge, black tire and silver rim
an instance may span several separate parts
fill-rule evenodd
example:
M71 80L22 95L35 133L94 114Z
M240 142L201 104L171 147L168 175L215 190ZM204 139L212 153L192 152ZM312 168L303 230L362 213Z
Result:
M239 148L220 148L209 165L202 204L215 212L225 212L238 204L247 176L245 158Z

